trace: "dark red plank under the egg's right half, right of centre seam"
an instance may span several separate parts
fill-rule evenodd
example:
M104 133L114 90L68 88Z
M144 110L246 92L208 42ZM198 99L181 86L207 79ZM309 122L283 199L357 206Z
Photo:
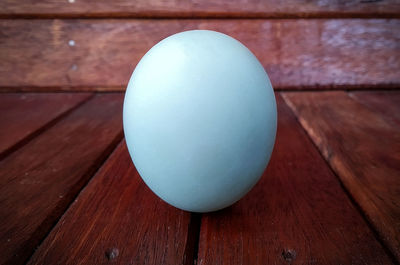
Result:
M242 200L203 215L198 264L390 264L277 96L278 132L270 164Z

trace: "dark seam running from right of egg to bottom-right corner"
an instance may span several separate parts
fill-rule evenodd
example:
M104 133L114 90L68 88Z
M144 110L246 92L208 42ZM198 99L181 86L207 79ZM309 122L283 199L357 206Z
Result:
M297 91L298 92L298 91ZM298 124L300 124L300 127L302 128L303 132L305 132L305 134L307 135L307 138L311 141L311 143L313 144L313 146L317 149L319 155L323 158L325 164L328 166L329 170L333 173L333 175L335 176L335 178L339 181L340 186L342 187L342 190L344 191L344 193L346 194L346 196L349 198L350 202L352 203L352 205L354 206L354 208L356 209L356 211L358 211L358 213L361 215L362 219L364 220L365 224L368 226L368 228L372 231L372 234L374 235L375 239L381 244L383 250L385 251L385 253L388 255L388 257L390 258L390 260L393 262L393 264L397 264L400 265L400 262L396 259L396 256L390 251L389 246L385 243L385 241L382 239L381 235L379 234L378 230L375 228L375 226L369 221L368 217L366 216L366 214L364 213L364 211L362 210L361 206L357 203L357 201L355 200L355 198L350 194L349 190L346 188L346 186L343 184L342 180L340 179L339 175L336 174L336 171L331 167L331 164L325 159L325 156L322 154L320 148L318 147L318 145L314 142L314 140L312 139L312 137L309 135L309 133L307 132L307 130L304 128L304 126L302 125L302 123L299 120L299 117L297 116L296 112L294 111L293 105L289 102L288 99L286 99L285 97L285 93L280 93L285 104L289 107L290 111L292 112L292 114L294 114L294 116L296 117L296 121Z

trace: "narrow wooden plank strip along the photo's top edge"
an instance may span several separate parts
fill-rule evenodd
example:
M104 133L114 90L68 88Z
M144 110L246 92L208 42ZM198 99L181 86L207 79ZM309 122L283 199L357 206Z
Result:
M400 4L386 1L307 0L3 0L0 16L16 17L399 17Z

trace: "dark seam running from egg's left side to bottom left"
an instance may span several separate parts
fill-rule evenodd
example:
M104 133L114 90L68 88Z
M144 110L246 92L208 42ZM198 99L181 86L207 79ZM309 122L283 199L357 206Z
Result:
M83 177L82 180L76 184L77 186L81 185L81 188L76 192L76 195L72 196L71 200L66 203L63 214L61 214L60 217L57 218L57 220L55 220L53 222L53 224L51 225L51 228L43 236L43 238L40 240L40 243L37 245L37 247L32 252L32 254L25 260L24 264L27 264L32 259L35 252L38 249L40 249L40 246L43 244L43 242L46 240L46 238L51 234L51 232L57 226L59 221L64 217L64 215L66 215L68 213L69 209L74 204L74 202L79 197L79 195L86 189L86 187L89 185L91 180L93 180L93 178L96 176L96 174L101 170L104 163L108 160L108 158L111 156L111 154L117 149L117 147L120 144L122 144L122 142L123 142L123 131L121 130L117 134L117 136L111 141L111 143L105 148L105 150L99 155L99 157L94 161L93 165L83 174L83 176L86 176L86 178Z

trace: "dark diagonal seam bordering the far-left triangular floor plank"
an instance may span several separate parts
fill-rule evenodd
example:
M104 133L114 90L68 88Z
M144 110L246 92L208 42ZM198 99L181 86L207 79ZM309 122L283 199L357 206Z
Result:
M0 161L3 160L4 158L6 158L7 156L9 156L10 154L12 154L13 152L15 152L16 150L20 149L21 147L23 147L27 143L29 143L31 140L33 140L34 138L36 138L37 136L39 136L43 132L47 131L48 129L50 129L51 127L56 125L59 121L61 121L65 117L67 117L70 113L72 113L74 110L76 110L79 107L81 107L83 104L85 104L86 102L91 100L93 97L94 97L94 93L92 93L89 97L87 97L86 99L82 100L81 102L79 102L75 106L72 106L70 109L60 113L58 116L54 117L53 119L51 119L47 123L43 124L38 129L36 129L35 131L31 132L30 134L28 134L27 136L25 136L24 138L22 138L21 140L17 141L15 144L13 144L9 148L7 148L3 152L1 152L0 153Z

